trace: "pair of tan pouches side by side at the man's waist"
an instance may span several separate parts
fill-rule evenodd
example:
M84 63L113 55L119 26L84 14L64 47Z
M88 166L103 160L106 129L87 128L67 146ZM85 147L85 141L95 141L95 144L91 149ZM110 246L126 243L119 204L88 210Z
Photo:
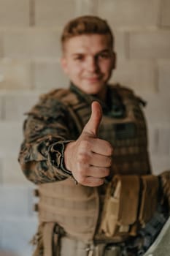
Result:
M107 188L99 233L136 236L158 206L158 176L114 176Z

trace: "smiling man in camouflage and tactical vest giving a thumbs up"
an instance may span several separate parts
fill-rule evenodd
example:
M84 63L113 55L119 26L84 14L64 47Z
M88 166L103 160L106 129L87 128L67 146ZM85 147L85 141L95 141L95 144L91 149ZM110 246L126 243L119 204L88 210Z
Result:
M116 53L106 20L71 20L61 45L69 89L28 112L19 155L38 185L34 256L144 255L169 214L169 173L150 170L144 101L108 83Z

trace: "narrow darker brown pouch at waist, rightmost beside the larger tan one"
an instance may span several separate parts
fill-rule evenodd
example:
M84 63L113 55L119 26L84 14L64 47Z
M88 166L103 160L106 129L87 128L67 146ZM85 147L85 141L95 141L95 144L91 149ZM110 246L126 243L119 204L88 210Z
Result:
M158 203L159 181L157 176L147 175L142 178L142 198L139 210L139 222L145 224L155 212Z

